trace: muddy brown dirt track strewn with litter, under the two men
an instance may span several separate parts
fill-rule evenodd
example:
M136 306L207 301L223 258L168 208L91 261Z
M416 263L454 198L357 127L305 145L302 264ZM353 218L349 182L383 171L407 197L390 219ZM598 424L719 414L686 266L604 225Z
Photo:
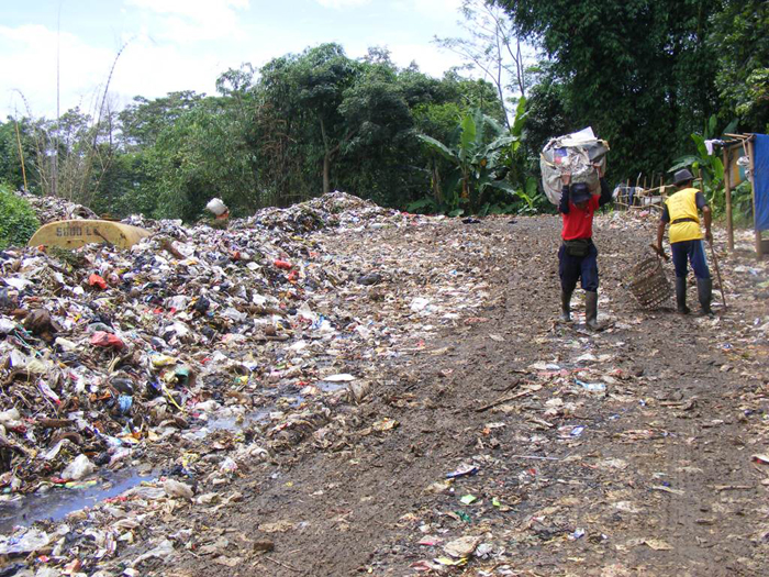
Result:
M350 275L383 277L350 291L350 320L397 333L420 287L439 303L462 279L481 306L347 358L376 368L368 395L243 471L236 504L169 513L190 544L142 574L769 575L767 279L722 255L727 311L646 312L623 282L654 223L595 229L595 334L581 291L555 320L556 217L322 233ZM452 557L460 537L472 554Z

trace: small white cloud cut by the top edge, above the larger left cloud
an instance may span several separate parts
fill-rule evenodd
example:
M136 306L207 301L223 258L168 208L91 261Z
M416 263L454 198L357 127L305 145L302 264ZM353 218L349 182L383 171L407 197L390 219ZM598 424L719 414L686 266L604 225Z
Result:
M238 12L249 8L249 0L126 0L126 4L155 15L154 37L191 43L243 38Z

